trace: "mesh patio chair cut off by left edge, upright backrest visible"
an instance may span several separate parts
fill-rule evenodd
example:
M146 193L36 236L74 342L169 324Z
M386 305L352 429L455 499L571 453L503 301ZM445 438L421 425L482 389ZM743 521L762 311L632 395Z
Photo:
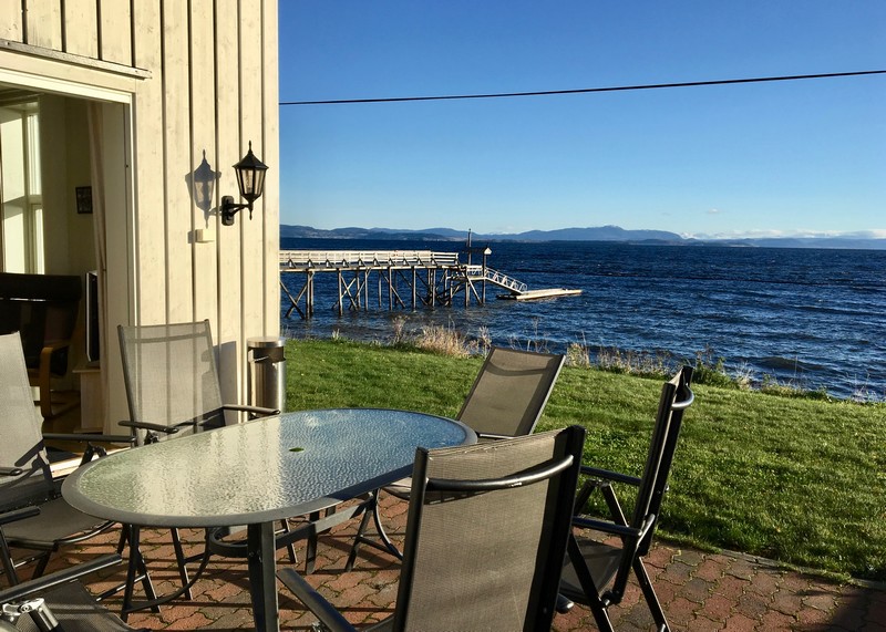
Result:
M91 538L114 525L78 511L61 497L60 481L53 480L50 470L41 424L31 397L21 339L18 333L0 335L0 511L40 507L40 515L8 526L0 537L0 561L13 584L19 581L18 567L37 561L33 576L39 577L60 547ZM89 441L127 438L53 436ZM10 548L32 555L13 560Z

